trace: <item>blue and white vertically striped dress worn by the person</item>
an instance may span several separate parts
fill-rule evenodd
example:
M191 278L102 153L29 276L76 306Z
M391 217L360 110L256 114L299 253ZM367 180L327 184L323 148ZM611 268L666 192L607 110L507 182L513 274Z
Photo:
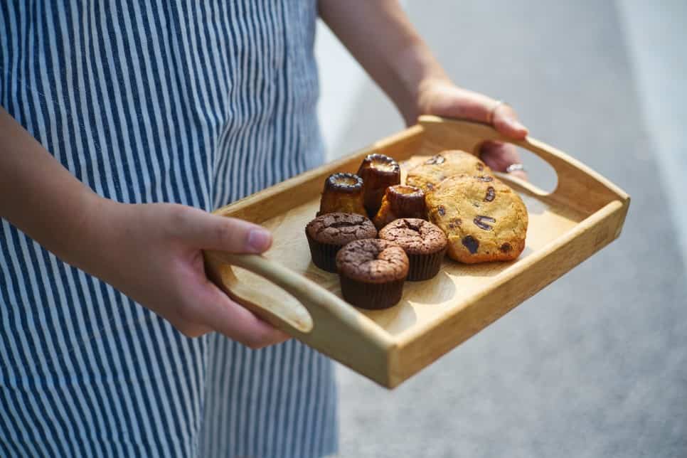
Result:
M2 0L0 104L101 196L211 210L323 159L316 14ZM319 353L187 339L2 220L1 457L314 457L336 441Z

